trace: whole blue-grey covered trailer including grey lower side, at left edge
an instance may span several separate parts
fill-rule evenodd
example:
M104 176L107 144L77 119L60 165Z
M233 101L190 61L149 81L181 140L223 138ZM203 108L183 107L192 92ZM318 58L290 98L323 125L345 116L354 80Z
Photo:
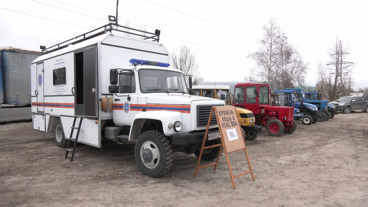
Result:
M0 122L31 119L31 62L41 52L0 47Z

